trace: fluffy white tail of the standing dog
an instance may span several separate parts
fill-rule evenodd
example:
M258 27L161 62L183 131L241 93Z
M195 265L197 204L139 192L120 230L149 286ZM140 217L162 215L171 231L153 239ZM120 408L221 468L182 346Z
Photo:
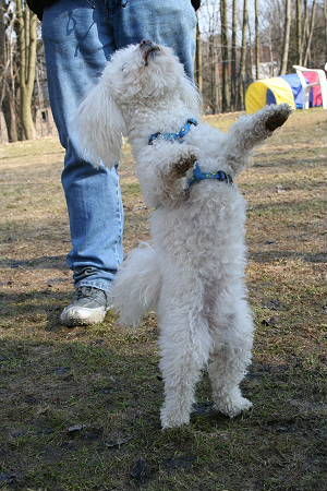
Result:
M113 283L113 308L120 314L120 322L137 325L147 311L156 308L160 285L156 252L144 243L128 255Z

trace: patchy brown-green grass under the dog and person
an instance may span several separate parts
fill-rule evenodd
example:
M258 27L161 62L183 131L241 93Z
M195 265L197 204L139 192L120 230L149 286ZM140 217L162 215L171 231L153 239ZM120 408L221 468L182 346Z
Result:
M208 120L227 130L235 117ZM326 134L326 112L298 111L240 179L253 410L213 414L204 375L192 423L165 432L155 315L138 330L113 313L88 328L58 323L72 291L59 143L0 147L1 489L327 489ZM129 147L121 176L131 249L148 237L148 211Z

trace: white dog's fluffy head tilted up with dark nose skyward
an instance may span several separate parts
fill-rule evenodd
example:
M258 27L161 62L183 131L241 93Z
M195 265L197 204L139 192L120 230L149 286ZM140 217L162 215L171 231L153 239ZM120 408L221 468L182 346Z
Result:
M137 108L167 107L178 97L191 115L199 111L199 96L173 51L150 40L117 51L99 83L78 107L72 140L94 165L119 160L121 140Z

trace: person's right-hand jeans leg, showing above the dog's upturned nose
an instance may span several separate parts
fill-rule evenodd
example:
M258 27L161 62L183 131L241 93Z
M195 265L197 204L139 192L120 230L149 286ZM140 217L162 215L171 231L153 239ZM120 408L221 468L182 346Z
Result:
M116 0L117 46L150 39L173 48L193 79L196 14L191 0Z

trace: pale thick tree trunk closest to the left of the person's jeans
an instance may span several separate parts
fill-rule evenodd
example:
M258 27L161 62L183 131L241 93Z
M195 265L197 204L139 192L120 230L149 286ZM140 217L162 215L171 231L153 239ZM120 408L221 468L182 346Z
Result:
M20 115L24 137L35 137L35 127L32 117L32 96L36 70L36 25L37 16L16 0L17 43L20 52Z

